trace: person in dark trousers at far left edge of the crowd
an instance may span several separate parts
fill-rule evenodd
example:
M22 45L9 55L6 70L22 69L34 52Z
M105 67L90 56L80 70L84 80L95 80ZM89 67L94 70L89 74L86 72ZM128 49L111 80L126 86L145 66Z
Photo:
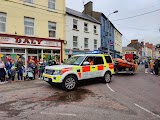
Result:
M6 71L4 68L5 68L5 64L2 61L2 59L0 58L0 80L1 80L1 83L3 83L5 81Z

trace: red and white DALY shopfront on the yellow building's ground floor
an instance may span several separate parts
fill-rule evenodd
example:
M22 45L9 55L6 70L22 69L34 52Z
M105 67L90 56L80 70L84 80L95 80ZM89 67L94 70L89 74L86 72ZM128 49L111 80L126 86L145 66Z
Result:
M0 57L3 61L7 57L17 61L21 57L25 65L30 59L47 61L55 56L61 61L62 43L63 40L0 34Z

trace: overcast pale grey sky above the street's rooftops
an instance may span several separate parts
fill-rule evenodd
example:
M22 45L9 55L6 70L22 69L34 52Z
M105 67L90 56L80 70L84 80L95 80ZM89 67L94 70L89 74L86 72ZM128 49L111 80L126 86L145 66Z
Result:
M131 39L160 44L160 10L132 19L119 20L138 14L143 14L160 9L160 0L84 0L93 2L93 10L103 12L106 16L115 10L109 19L123 34L123 46L130 43ZM83 0L66 0L66 6L82 12Z

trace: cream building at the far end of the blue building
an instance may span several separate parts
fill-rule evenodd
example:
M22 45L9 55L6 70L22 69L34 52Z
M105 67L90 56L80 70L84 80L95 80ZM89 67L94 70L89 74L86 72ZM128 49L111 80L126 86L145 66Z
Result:
M122 55L122 34L114 29L114 50Z

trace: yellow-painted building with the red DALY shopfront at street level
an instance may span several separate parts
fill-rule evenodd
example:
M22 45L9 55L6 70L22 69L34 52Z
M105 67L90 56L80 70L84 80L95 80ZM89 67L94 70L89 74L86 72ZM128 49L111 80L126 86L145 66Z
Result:
M65 12L65 0L1 0L0 56L63 59Z

